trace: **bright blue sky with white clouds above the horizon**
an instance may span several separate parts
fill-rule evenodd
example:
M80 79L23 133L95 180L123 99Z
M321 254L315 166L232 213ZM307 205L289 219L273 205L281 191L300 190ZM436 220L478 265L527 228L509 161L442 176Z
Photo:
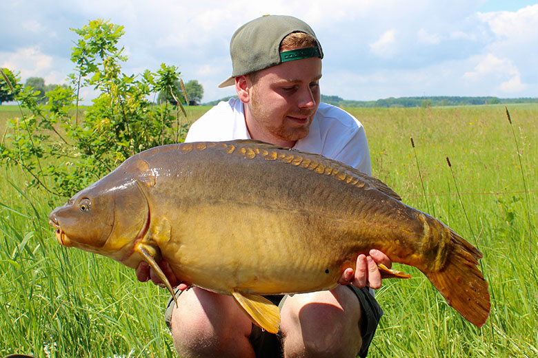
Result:
M263 14L306 21L323 48L321 93L538 97L538 0L0 0L0 67L67 83L71 48L94 19L123 25L123 72L176 65L203 102L235 94L230 38ZM86 101L92 97L83 92Z

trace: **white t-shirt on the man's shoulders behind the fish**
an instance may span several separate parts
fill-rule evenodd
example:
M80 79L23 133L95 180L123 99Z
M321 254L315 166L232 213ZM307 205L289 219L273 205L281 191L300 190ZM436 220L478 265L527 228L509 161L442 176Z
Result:
M186 142L221 142L250 139L243 103L239 98L221 102L192 123ZM370 151L364 128L351 114L320 103L308 135L297 140L294 149L321 154L372 175Z

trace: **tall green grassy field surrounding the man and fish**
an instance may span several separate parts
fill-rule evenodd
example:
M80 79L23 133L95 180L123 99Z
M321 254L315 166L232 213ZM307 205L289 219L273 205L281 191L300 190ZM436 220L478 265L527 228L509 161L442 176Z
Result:
M13 109L0 106L1 134ZM189 107L189 118L207 109ZM366 127L374 176L484 253L492 299L475 328L419 271L395 265L413 278L377 291L386 314L368 357L538 357L538 105L508 109L512 126L499 105L349 109ZM47 203L65 199L27 187L17 167L0 170L0 357L176 357L166 290L60 246Z

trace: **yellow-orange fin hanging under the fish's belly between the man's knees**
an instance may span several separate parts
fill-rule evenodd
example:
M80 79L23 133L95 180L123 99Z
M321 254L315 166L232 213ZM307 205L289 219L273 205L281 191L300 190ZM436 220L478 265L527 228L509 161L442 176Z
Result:
M280 326L279 308L259 295L232 292L235 302L257 326L269 333L278 333Z

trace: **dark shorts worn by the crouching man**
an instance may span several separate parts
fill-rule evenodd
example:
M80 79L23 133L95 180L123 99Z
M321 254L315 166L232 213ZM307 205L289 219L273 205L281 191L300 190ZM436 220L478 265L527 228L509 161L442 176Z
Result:
M379 319L383 315L383 310L370 294L370 288L357 288L355 286L348 286L352 290L359 302L361 303L362 318L361 318L361 337L362 346L359 351L359 357L366 357L368 354L368 348L374 337L375 330ZM181 294L178 289L175 290L176 297ZM287 296L266 296L271 302L277 304L280 309ZM166 326L170 329L170 320L172 319L172 309L174 308L174 299L170 297L168 304L166 305L166 312L164 314L164 321ZM249 337L250 343L256 352L257 358L274 358L282 357L282 342L280 332L276 335L268 333L262 330L255 324L252 324L252 333Z

